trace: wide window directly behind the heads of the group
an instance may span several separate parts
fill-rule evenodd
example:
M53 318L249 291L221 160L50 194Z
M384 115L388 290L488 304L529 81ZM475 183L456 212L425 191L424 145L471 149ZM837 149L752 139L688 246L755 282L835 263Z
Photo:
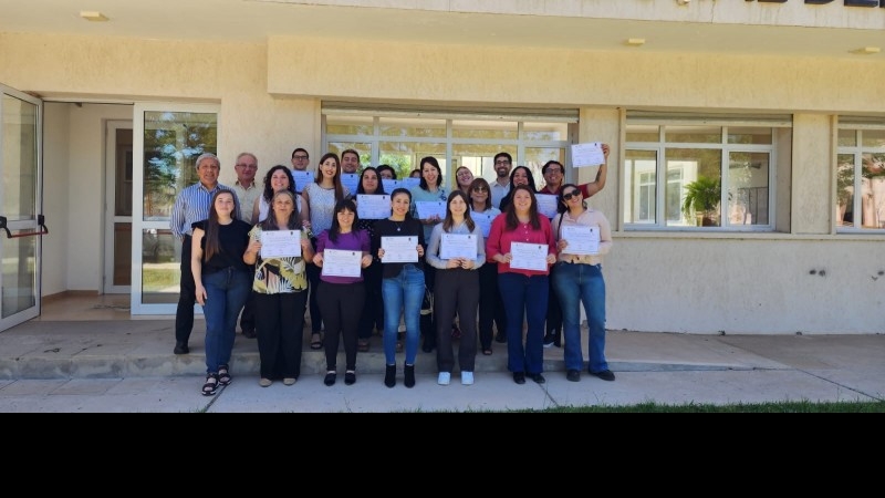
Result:
M455 186L452 173L467 166L475 177L496 180L492 159L499 152L513 166L531 169L542 188L541 167L550 159L569 164L571 127L577 110L477 110L379 106L361 108L348 103L323 103L323 147L354 148L363 166L387 164L397 178L407 177L421 157L434 156L442 168L444 185ZM566 177L571 173L566 168Z

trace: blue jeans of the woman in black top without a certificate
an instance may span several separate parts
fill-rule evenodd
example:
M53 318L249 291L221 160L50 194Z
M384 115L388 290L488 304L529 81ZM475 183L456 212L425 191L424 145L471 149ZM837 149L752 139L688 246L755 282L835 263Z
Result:
M218 372L230 364L233 339L237 336L237 318L246 298L252 291L252 273L228 268L202 276L206 288L206 372Z

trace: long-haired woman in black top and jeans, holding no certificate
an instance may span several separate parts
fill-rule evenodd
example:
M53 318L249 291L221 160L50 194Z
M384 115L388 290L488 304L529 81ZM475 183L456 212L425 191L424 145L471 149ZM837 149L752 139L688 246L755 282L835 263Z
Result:
M192 225L190 270L197 302L206 318L206 383L202 395L231 382L230 354L237 335L237 317L251 289L251 272L242 260L249 246L246 221L233 216L237 204L230 190L212 196L209 219Z

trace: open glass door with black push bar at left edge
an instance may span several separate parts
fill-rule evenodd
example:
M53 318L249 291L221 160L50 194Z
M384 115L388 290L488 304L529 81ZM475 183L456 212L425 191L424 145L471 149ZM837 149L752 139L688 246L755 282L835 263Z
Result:
M40 314L43 103L0 84L0 331Z

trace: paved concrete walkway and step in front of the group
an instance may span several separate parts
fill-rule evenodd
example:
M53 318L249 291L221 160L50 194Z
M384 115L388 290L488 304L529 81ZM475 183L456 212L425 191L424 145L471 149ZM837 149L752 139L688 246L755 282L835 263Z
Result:
M478 356L476 384L436 384L436 355L418 353L417 385L384 386L381 339L357 357L357 382L323 384L322 352L305 349L293 386L258 385L254 340L237 336L233 383L204 382L201 321L189 355L171 354L174 322L32 321L0 333L0 413L466 412L645 402L885 401L884 335L695 335L610 331L615 382L568 382L562 350L544 350L545 384L513 383L503 344ZM306 347L308 342L305 342ZM343 365L342 360L339 362Z

